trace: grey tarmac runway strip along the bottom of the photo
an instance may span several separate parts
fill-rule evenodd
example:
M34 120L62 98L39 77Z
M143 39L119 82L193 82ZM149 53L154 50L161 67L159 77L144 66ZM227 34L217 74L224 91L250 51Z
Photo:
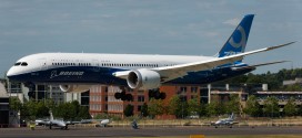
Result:
M34 130L29 128L1 128L0 137L3 138L95 138L95 137L173 137L173 136L225 136L225 135L302 135L302 127L236 127L236 128L213 128L213 127L148 127L131 129L129 127L109 128L69 128L69 130L48 129L38 127Z

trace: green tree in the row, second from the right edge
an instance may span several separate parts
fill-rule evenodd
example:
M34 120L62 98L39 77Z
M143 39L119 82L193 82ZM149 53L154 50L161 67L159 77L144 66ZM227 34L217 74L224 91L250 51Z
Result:
M268 97L264 100L263 105L263 113L266 116L275 117L279 116L279 105L278 105L278 98L274 96Z

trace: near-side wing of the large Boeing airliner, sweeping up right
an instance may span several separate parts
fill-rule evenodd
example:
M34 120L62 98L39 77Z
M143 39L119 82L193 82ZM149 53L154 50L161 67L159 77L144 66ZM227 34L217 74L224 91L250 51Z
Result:
M274 49L283 47L286 45L290 45L294 42L275 45L275 46L269 46L264 49L259 49L250 52L244 52L240 54L234 54L230 56L223 56L223 57L217 57L208 61L201 61L201 62L193 62L193 63L187 63L187 64L180 64L174 66L164 66L164 67L155 67L151 68L152 71L158 72L161 75L162 83L185 76L188 72L198 72L198 71L204 71L204 70L212 70L219 65L223 65L226 63L233 63L235 61L242 60L245 55L255 54L260 52L271 51ZM120 78L127 78L130 71L121 71L113 73L114 76Z

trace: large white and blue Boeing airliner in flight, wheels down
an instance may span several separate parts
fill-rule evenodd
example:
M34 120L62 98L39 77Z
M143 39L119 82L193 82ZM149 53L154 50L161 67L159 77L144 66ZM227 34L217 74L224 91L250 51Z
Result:
M215 56L39 53L24 56L8 71L11 81L58 84L63 92L84 92L94 84L155 89L161 85L200 85L242 75L256 66L248 65L245 55L279 49L291 43L244 52L253 21L245 15ZM173 47L171 47L173 49ZM155 98L164 94L150 91ZM130 94L117 93L115 98L131 100Z

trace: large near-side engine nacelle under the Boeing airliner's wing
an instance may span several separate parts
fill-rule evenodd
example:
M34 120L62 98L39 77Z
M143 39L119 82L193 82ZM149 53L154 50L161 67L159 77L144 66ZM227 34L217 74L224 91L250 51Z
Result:
M132 89L153 89L161 85L161 76L158 72L141 68L131 71L127 77L128 86Z

